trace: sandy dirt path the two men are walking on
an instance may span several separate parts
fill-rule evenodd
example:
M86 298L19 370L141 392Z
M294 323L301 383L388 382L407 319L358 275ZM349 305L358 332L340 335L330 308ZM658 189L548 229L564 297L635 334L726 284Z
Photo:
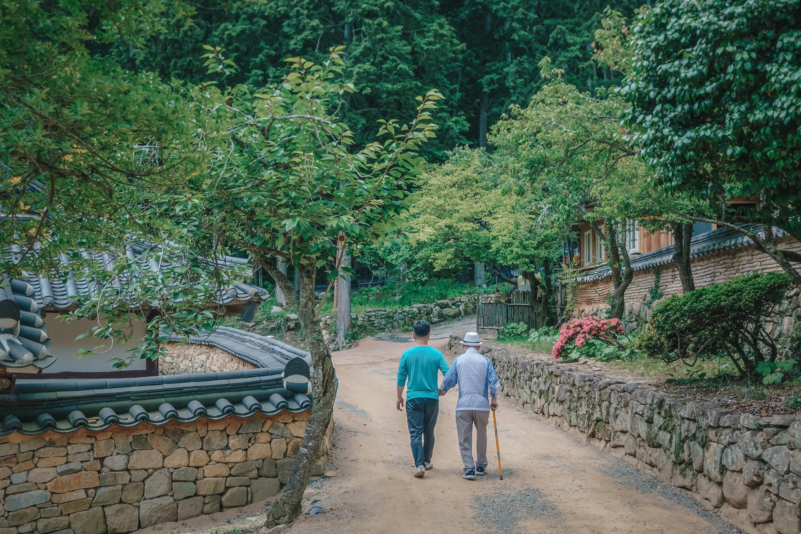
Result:
M334 353L340 379L332 450L336 477L312 481L310 497L316 492L313 498L322 500L326 513L301 516L291 534L739 532L692 497L581 444L505 398L497 412L504 480L493 464L494 444L487 476L461 478L456 391L441 398L434 468L414 478L406 416L395 409L397 363L412 344L365 339ZM263 514L264 504L252 504L239 514L187 521L175 532L256 527Z

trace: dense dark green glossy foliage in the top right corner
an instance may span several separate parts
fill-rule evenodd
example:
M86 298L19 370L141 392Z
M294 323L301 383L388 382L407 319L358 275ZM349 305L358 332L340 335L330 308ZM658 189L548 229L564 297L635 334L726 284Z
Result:
M799 2L668 0L634 24L628 139L718 219L801 235ZM728 200L759 199L736 214ZM796 282L797 283L797 282Z

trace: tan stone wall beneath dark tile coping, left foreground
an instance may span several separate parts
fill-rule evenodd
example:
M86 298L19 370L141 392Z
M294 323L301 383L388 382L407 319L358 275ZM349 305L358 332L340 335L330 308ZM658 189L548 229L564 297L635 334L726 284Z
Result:
M309 416L0 437L0 534L132 532L267 499L287 482Z

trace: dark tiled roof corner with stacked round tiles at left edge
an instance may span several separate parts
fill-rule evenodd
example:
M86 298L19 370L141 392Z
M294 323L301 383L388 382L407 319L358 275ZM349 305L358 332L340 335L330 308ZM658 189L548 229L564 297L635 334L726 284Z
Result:
M38 372L54 363L50 341L33 287L21 280L8 283L0 278L0 308L5 318L14 315L15 327L0 327L0 367L8 372Z

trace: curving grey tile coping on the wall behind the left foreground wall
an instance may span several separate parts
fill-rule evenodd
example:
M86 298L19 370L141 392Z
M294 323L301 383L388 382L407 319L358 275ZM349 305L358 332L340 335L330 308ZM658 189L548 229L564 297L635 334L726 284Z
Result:
M186 340L177 335L167 334L167 341L186 342ZM312 366L312 355L307 351L301 351L277 339L231 327L215 327L212 332L192 335L189 343L212 345L259 367L279 369L278 372L284 371L284 366L292 358L300 357L309 367Z

